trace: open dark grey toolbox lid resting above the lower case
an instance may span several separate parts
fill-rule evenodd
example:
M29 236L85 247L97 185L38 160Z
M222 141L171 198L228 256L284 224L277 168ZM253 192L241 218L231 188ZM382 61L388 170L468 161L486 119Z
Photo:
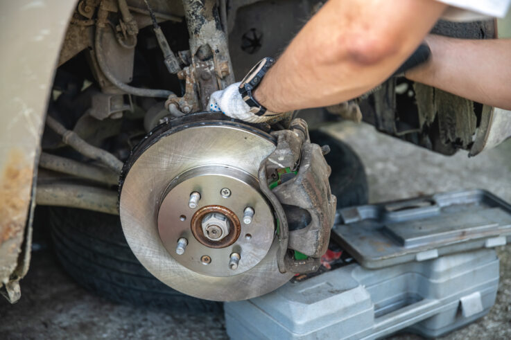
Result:
M332 238L361 265L381 268L511 240L511 206L464 190L338 212Z

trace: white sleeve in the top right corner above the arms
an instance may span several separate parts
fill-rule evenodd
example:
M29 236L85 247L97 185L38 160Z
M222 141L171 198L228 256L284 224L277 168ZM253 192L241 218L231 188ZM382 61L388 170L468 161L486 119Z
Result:
M442 19L474 21L491 17L503 18L508 13L511 0L436 0L450 7Z

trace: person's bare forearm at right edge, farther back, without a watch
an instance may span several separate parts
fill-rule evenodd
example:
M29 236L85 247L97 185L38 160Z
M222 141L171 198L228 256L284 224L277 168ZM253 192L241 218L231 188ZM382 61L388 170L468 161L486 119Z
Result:
M511 110L511 39L468 40L429 35L428 62L406 78L486 105Z

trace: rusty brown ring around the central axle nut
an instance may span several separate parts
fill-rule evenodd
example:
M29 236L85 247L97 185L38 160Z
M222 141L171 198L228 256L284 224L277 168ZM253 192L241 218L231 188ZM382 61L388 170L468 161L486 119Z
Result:
M209 240L206 238L206 235L204 235L204 232L202 231L202 218L209 213L221 213L225 215L232 226L232 230L229 232L229 234L227 234L227 236L220 241ZM236 214L233 213L230 209L225 208L225 206L203 206L195 214L193 214L193 217L191 217L191 232L201 244L204 244L209 248L219 249L229 247L231 244L236 242L236 240L238 240L239 234L241 233L241 225Z

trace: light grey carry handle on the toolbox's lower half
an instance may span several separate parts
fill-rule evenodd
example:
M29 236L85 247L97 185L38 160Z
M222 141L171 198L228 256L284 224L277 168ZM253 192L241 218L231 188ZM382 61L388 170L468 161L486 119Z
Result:
M374 332L385 330L386 334L394 332L408 325L427 319L437 313L440 307L440 300L424 298L421 301L412 303L399 310L392 311L374 319Z

